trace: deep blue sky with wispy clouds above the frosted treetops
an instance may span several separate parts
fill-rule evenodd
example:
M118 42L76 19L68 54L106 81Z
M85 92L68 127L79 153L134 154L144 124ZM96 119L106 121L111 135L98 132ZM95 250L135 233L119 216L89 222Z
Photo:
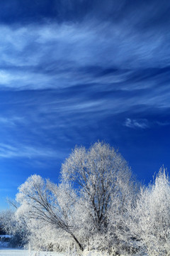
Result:
M0 208L74 146L119 149L137 179L170 168L170 3L0 3Z

